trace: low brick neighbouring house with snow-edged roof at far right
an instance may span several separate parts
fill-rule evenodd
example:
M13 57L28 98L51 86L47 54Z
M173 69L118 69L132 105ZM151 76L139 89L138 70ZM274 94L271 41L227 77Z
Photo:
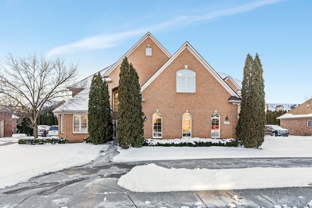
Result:
M298 105L277 119L280 119L281 127L288 129L290 135L312 136L312 99Z

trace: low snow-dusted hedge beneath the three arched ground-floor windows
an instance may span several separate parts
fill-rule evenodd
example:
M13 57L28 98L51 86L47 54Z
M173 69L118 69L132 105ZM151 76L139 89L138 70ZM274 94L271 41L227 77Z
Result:
M217 146L217 147L237 147L238 141L233 139L230 142L226 143L215 143L215 142L197 142L194 143L191 142L181 142L181 143L156 143L156 144L150 144L146 142L147 140L144 140L143 146L162 146L162 147L211 147L211 146Z

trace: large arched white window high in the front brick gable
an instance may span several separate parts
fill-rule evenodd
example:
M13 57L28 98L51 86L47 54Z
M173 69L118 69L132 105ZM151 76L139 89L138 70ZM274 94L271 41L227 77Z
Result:
M176 72L176 92L196 92L196 73L193 70L181 69Z

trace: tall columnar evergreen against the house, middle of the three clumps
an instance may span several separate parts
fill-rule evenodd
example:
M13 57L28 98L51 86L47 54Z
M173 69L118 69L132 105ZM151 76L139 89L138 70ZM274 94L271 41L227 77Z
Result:
M137 72L125 57L120 66L116 129L119 146L124 149L142 147L144 143L141 101Z

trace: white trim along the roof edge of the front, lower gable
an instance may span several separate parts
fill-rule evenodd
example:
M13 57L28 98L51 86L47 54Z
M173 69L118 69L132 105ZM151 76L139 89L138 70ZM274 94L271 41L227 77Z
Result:
M234 90L221 78L221 76L218 75L218 73L215 72L215 70L206 62L206 60L201 57L197 51L191 46L189 42L185 42L177 51L176 53L169 58L169 60L160 67L157 72L149 79L147 80L141 87L141 92L143 92L150 83L152 83L157 76L159 76L175 59L178 57L185 49L188 49L194 57L198 59L198 61L211 73L212 76L215 77L215 79L229 92L231 97L238 98L237 100L231 99L232 102L239 102L240 97L234 92Z

